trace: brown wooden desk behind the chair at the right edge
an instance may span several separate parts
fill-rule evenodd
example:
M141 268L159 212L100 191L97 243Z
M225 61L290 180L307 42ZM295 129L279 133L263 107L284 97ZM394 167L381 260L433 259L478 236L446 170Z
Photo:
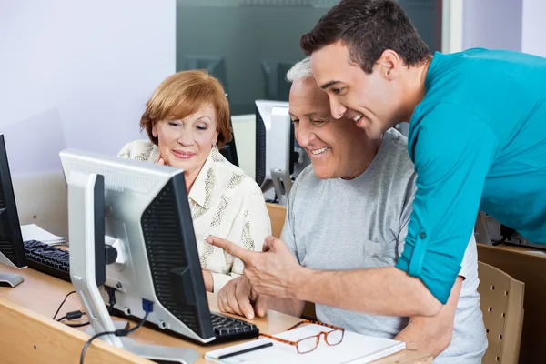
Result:
M520 362L538 363L546 358L546 255L537 248L478 244L478 260L499 268L525 283ZM546 252L546 250L544 250Z

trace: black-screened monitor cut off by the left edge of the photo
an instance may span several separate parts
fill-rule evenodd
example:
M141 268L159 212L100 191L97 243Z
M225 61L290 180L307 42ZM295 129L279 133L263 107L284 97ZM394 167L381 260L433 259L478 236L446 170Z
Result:
M0 263L14 268L26 267L25 246L3 134L0 134ZM0 286L15 287L23 280L19 274L0 273Z

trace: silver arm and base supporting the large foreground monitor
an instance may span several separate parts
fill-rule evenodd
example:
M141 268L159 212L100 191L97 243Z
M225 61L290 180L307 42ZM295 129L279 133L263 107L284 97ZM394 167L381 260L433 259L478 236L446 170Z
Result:
M118 322L116 327L96 286L94 223L96 175L86 176L74 173L70 178L68 183L68 210L70 211L68 231L70 241L72 241L72 244L70 244L70 278L72 284L85 307L86 316L89 318L89 323L94 332L125 329L125 322ZM73 207L75 204L81 206L82 201L84 201L84 210ZM81 243L75 244L75 241ZM117 337L112 334L98 339L146 359L193 364L200 357L194 349L140 344L133 339Z

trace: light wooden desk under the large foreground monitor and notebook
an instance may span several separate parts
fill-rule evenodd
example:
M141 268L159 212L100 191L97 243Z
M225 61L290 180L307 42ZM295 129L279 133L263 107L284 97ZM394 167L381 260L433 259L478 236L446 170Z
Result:
M89 336L84 329L72 329L54 321L53 315L66 294L74 290L63 280L49 277L34 269L16 270L0 265L0 272L17 272L25 277L25 282L15 288L0 287L0 358L2 363L59 364L76 363ZM217 310L216 297L208 296L209 306ZM60 314L80 309L76 295L71 295ZM300 319L275 311L268 311L265 318L255 319L259 329L268 334L285 331ZM6 335L6 332L9 332ZM215 346L198 346L174 338L160 331L148 328L137 329L132 339L148 344L160 344L196 349L201 355L199 364L212 363L203 358L205 352L219 349L234 343ZM427 364L432 357L416 351L404 350L376 363L380 364ZM86 364L151 364L126 350L107 345L101 340L93 341L86 353Z

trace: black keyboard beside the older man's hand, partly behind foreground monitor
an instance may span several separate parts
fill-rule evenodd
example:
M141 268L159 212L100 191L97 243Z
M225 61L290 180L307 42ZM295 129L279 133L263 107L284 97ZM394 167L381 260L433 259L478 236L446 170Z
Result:
M214 336L216 336L211 344L258 337L258 327L250 322L229 318L213 312L210 313L210 319L212 320Z

